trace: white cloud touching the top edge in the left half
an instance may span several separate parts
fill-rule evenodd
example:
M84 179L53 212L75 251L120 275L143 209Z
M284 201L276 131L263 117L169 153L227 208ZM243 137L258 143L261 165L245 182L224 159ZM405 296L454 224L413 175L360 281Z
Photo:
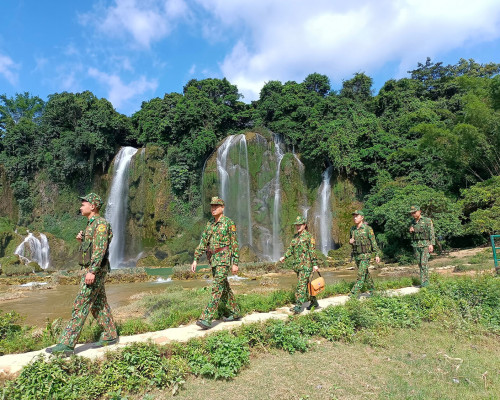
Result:
M149 48L152 42L170 34L175 23L188 13L184 0L115 0L108 8L80 16L80 22L94 24L110 36L131 35L139 47Z

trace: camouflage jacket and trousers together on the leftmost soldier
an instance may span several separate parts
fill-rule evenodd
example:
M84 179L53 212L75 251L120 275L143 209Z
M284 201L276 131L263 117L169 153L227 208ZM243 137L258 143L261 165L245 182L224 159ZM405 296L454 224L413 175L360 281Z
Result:
M102 340L113 340L118 337L104 290L104 281L109 271L107 250L112 237L111 226L103 217L95 215L88 220L80 246L80 264L84 268L84 274L80 282L80 291L73 303L71 319L61 335L60 343L64 345L75 347L89 309L104 329ZM85 283L85 275L88 272L95 274L92 285Z

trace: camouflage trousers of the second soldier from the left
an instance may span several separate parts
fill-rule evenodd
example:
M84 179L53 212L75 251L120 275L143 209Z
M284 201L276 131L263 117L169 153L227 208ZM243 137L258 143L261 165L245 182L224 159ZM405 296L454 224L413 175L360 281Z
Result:
M205 311L201 314L200 319L212 322L219 306L229 309L229 315L240 316L240 308L236 303L233 291L227 281L229 268L229 265L217 265L212 267L212 276L214 277L211 293L212 297Z

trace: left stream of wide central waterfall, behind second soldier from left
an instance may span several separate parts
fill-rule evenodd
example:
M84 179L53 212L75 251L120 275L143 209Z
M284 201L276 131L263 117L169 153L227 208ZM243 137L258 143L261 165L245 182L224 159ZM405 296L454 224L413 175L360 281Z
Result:
M220 196L224 214L231 218L238 232L240 246L253 245L250 172L245 135L228 136L217 150Z

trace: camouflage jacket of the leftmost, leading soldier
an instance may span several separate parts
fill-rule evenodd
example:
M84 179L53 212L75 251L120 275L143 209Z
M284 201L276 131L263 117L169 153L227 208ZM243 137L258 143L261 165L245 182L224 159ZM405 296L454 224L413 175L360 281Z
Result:
M94 215L87 221L83 241L80 245L80 265L89 272L101 271L103 266L109 269L108 248L113 237L111 225L103 217Z

